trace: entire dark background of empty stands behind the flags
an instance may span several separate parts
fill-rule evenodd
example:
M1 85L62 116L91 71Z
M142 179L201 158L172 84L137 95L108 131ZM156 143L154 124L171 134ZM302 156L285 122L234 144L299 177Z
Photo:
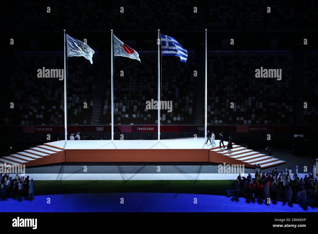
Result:
M82 57L68 58L68 97L86 95L88 103L93 100L95 109L97 101L101 100L97 111L101 117L97 123L92 123L93 108L74 117L73 109L82 105L79 102L68 111L68 124L81 125L83 120L98 126L110 123L109 111L103 113L106 100L110 106L110 29L135 49L142 61L114 59L115 102L124 100L128 94L128 99L137 100L131 105L128 120L119 114L120 120L117 121L116 115L115 124L156 124L156 110L150 110L151 117L141 123L131 118L131 114L135 112L132 110L135 105L137 111L144 109L142 104L138 105L142 97L145 100L157 97L158 28L163 34L177 39L189 53L187 63L181 63L177 57L162 58L162 98L178 102L179 108L172 117L166 113L171 123L162 120L162 124L204 125L204 29L207 28L209 128L226 124L287 125L293 129L298 125L304 126L304 132L297 129L294 133L274 133L275 144L287 140L291 149L294 134L305 134L309 142L316 140L318 4L315 1L80 0L5 1L2 4L2 126L64 124L63 110L59 110L64 102L64 82L36 77L39 68L63 68L63 29L76 39L87 39L87 44L95 50L93 65ZM266 13L268 6L271 13ZM46 12L47 7L51 7L51 13ZM120 7L124 7L124 13L120 13ZM197 7L197 13L193 12L193 7ZM14 45L10 45L11 38ZM231 38L234 45L230 45ZM308 39L308 45L303 44L304 38ZM281 68L282 80L255 78L255 69L261 66ZM124 77L119 76L120 70L124 70ZM197 77L193 77L194 70L198 72ZM86 88L77 90L82 87ZM38 103L32 103L32 98ZM186 103L187 98L193 100L192 114L187 111L187 105L190 105ZM10 102L17 103L14 110L9 108ZM72 102L74 98L69 103ZM236 110L229 108L230 102L235 103ZM307 110L303 108L304 102L308 102ZM35 114L24 117L28 115L30 105L45 106L43 120ZM57 106L58 114L47 112L52 105ZM36 114L40 112L38 108ZM177 114L185 120L174 121ZM51 118L57 118L57 122ZM28 124L22 123L27 119L30 120ZM23 132L10 134L8 128L0 129L3 141L29 139L33 143L45 140L29 138ZM15 137L15 134L19 136ZM258 133L233 136L233 140L242 143L266 140L264 134Z

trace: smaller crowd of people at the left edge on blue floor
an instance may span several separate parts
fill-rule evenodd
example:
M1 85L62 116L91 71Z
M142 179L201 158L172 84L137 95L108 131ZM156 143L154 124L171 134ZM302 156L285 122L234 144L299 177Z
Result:
M33 179L29 179L29 176L24 178L24 176L20 177L16 174L16 177L13 179L9 177L9 174L4 173L4 175L2 175L2 173L0 173L0 181L1 199L34 195L34 182Z

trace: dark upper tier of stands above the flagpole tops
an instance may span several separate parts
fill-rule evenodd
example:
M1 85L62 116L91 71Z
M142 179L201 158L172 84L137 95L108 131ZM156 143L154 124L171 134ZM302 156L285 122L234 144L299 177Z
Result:
M110 28L152 31L154 30L153 25L167 30L198 30L200 27L214 30L317 29L314 19L317 18L318 12L314 1L305 1L303 9L296 8L294 10L292 1L287 4L286 1L282 0L270 3L264 0L173 1L164 4L161 1L121 0L115 3L107 1L93 3L77 1L76 4L73 2L54 2L49 5L43 1L35 0L7 4L13 4L16 9L12 12L14 18L12 22L14 29L12 30L15 31L24 31L29 28L34 31L44 30L41 22L47 21L47 7L51 7L51 13L49 13L51 22L45 27L46 30L49 27L50 31L59 31L64 22L71 30L78 30L80 25L81 31L105 31ZM124 13L120 12L121 7L124 7ZM198 14L193 12L194 7L197 7ZM271 13L275 17L266 14L267 7L271 7ZM42 11L38 11L39 8ZM306 14L301 13L301 19L306 21L305 23L294 21L298 14L297 11L306 12ZM82 12L81 17L78 16L78 12ZM203 19L206 15L211 16L211 20L204 22ZM91 23L88 18L96 20L96 23ZM176 22L167 25L167 18L176 19ZM28 27L24 25L24 22L28 22ZM3 25L11 29L9 25Z

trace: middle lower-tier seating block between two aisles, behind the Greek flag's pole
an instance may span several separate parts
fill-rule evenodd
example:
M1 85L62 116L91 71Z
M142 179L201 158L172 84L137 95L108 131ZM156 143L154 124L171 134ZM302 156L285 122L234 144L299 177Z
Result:
M157 57L141 53L142 64L127 58L115 59L114 73L114 123L115 124L154 124L157 122L157 110L147 110L146 101L157 100ZM121 62L119 62L121 61ZM129 64L127 66L127 63ZM139 64L138 64L139 63ZM161 99L172 102L172 111L162 110L163 124L191 124L194 78L188 63L180 63L174 58L162 59ZM120 71L125 68L124 77ZM180 70L176 73L175 70ZM109 74L110 77L110 74ZM108 82L110 86L110 81ZM171 90L175 90L172 92ZM111 123L110 90L104 102L102 124Z

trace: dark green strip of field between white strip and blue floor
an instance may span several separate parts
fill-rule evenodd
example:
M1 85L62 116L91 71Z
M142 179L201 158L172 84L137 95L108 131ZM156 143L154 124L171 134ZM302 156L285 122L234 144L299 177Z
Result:
M188 193L225 195L233 180L35 181L35 195L74 193Z

